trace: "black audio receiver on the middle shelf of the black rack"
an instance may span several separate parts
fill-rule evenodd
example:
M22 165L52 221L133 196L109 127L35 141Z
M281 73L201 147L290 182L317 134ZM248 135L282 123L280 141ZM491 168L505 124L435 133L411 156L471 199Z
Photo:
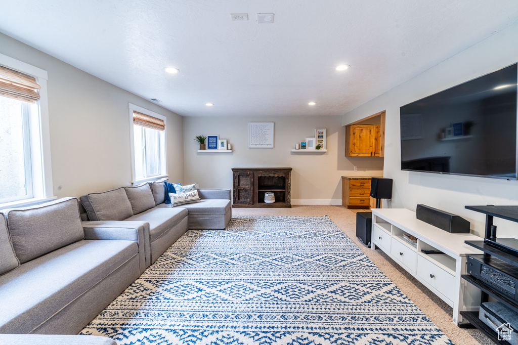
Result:
M518 301L518 267L494 256L468 255L468 273L499 293Z

